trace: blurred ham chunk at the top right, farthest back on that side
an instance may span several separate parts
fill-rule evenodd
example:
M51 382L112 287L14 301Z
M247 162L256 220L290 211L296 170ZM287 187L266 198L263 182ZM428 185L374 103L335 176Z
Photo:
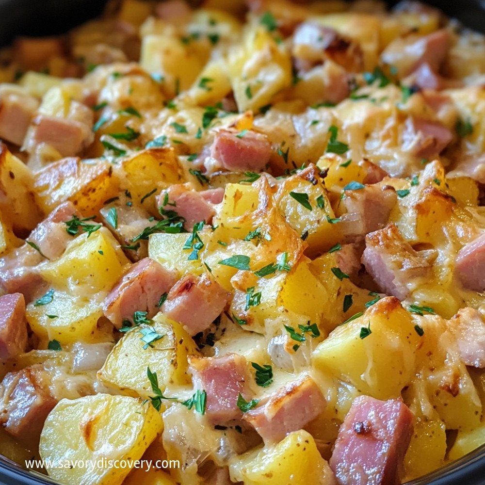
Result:
M394 66L401 79L424 63L437 71L448 53L450 44L450 34L445 29L424 36L398 37L384 49L381 61Z

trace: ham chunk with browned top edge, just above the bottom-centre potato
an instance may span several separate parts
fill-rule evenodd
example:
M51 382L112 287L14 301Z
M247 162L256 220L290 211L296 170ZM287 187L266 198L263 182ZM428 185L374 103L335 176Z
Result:
M265 442L281 441L323 412L322 392L308 375L278 389L269 399L244 414Z

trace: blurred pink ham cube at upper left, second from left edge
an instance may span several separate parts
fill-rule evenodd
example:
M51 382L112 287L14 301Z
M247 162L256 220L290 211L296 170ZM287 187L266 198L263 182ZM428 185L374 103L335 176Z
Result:
M29 153L45 143L54 147L63 157L81 153L93 141L91 127L80 121L39 114L32 121L23 148Z

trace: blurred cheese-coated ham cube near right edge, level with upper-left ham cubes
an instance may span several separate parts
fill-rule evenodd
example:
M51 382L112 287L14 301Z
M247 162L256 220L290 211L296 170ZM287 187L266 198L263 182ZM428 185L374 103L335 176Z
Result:
M409 117L402 138L404 151L430 160L437 157L453 140L453 133L436 121Z

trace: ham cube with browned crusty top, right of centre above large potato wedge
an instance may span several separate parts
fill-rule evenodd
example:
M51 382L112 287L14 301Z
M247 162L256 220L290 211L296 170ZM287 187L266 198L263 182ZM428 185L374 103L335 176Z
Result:
M416 252L394 224L365 238L365 269L382 292L404 300L417 282L430 273L429 262Z

